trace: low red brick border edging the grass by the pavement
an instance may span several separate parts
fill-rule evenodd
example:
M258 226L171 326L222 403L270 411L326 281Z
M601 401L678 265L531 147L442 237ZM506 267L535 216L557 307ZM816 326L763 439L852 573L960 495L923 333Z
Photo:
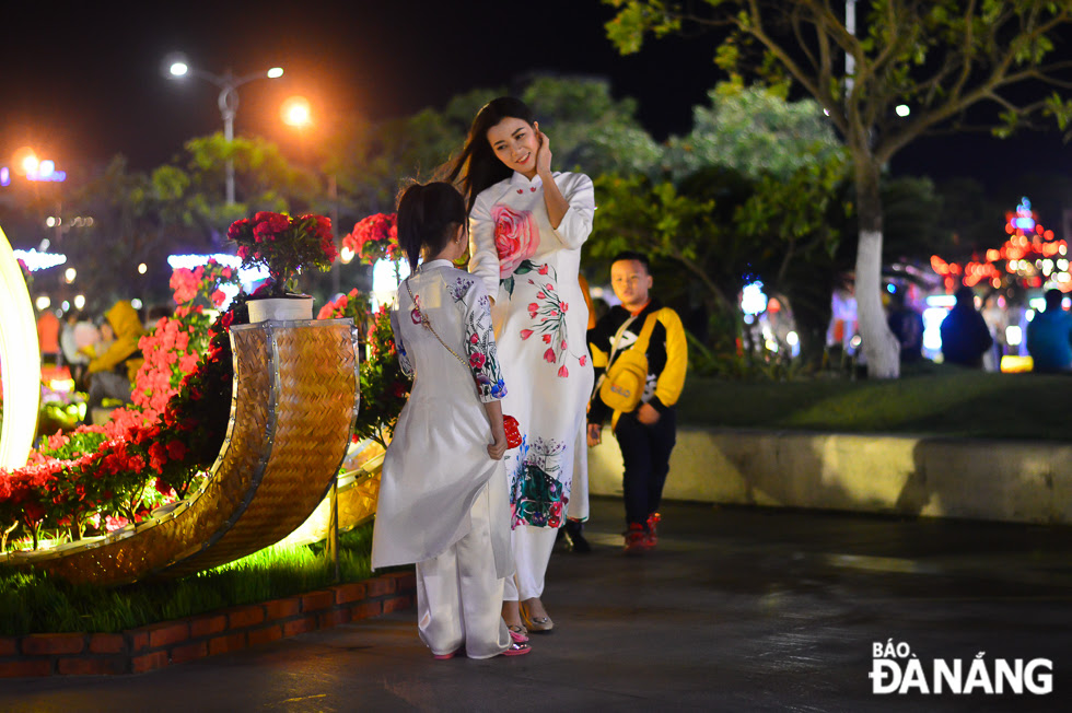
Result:
M412 572L338 584L121 633L0 636L0 678L143 674L415 606Z

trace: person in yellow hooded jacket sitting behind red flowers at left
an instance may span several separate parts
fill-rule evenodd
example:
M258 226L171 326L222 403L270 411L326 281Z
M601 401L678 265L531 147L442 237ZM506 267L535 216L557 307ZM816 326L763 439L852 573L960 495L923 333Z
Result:
M130 400L131 385L141 364L144 361L138 340L141 339L142 328L138 312L126 300L116 302L104 313L105 324L101 332L107 337L107 331L115 334L115 339L98 354L90 360L86 366L89 377L89 398L85 404L85 418L91 420L93 409L103 405L104 399L119 399L124 404Z

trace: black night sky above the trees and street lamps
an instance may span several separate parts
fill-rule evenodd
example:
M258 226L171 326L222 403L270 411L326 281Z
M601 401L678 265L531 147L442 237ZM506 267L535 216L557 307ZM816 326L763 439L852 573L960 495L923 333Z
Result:
M307 96L321 116L382 119L548 70L609 78L616 96L638 100L657 139L688 131L691 107L720 79L711 37L650 40L639 55L620 57L604 36L611 15L598 0L4 3L0 156L7 163L28 144L59 168L119 152L148 168L186 139L219 130L214 87L162 77L164 57L176 50L217 73L284 67L282 79L241 90L235 122L238 133L284 145L293 136L277 107L293 94ZM893 168L999 184L1068 166L1072 149L1054 131L924 140Z

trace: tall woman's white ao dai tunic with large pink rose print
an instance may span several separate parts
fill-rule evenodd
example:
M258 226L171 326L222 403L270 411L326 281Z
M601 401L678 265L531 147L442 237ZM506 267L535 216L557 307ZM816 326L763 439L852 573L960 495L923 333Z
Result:
M520 173L481 191L469 214L469 271L496 295L491 314L510 382L502 408L523 437L505 456L514 527L562 525L592 393L589 311L578 273L595 198L584 174L556 173L555 183L569 202L558 229L539 176Z

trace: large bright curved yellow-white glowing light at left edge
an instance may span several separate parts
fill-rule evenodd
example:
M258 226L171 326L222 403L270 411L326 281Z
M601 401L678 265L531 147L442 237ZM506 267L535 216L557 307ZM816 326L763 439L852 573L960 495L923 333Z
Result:
M3 424L0 425L0 468L26 465L37 431L40 408L40 348L37 323L22 269L0 229L0 378L3 383Z

